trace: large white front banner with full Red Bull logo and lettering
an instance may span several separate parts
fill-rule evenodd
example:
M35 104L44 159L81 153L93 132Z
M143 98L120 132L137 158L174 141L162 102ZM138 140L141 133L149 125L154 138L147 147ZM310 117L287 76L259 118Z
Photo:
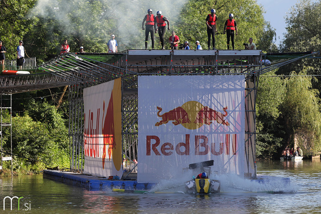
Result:
M244 174L244 76L138 77L138 182L182 176L189 164Z

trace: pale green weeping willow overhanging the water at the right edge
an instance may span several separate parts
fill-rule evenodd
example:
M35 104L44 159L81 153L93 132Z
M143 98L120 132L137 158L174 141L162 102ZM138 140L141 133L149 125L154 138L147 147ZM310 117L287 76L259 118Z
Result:
M282 104L285 139L288 145L297 143L308 151L317 152L321 149L319 92L312 89L312 77L304 75L304 71L298 75L292 72L286 80L286 95Z

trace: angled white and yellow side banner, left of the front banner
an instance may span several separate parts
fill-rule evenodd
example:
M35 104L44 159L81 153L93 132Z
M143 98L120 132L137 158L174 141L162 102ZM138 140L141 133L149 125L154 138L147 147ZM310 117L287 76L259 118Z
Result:
M122 176L121 79L84 89L84 173Z

